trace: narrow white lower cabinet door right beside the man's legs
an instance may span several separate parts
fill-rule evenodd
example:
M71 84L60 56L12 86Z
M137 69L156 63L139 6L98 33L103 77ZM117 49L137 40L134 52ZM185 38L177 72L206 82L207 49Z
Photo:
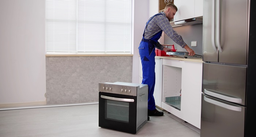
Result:
M162 60L161 58L155 58L155 89L154 99L155 105L161 108L162 104Z

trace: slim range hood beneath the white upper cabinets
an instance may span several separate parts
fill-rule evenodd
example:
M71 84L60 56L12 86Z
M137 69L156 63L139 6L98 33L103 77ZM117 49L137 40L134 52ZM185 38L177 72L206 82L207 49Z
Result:
M185 19L185 20L180 20L180 21L172 21L170 24L172 27L177 27L177 26L182 26L182 25L195 25L195 24L201 24L203 23L203 17L196 17L196 18L191 18L191 19Z

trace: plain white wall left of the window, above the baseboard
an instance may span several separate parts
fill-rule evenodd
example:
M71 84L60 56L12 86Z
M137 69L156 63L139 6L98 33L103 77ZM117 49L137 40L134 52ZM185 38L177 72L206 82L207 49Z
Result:
M0 104L45 102L45 0L0 0Z

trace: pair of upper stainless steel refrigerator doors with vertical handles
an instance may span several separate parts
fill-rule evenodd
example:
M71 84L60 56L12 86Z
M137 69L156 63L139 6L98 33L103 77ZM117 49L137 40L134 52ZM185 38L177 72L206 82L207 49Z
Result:
M246 65L248 0L203 4L203 61Z

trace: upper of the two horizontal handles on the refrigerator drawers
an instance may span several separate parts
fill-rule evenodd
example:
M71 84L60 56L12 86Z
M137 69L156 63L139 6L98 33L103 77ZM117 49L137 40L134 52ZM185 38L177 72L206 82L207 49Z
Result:
M230 96L224 96L224 95L221 95L221 94L217 94L215 92L211 92L207 89L204 89L204 94L213 96L215 98L223 99L223 100L226 100L226 101L229 101L229 102L242 103L242 99L240 99L240 98L233 98L233 97L230 97Z

